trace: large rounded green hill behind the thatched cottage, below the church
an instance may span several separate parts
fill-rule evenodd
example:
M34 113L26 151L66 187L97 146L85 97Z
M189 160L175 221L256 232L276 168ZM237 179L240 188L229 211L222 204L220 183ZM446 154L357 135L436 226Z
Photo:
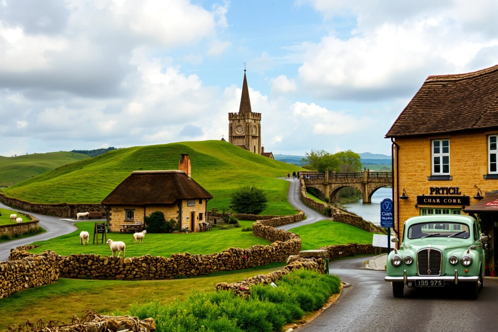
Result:
M109 151L98 157L59 167L2 191L37 203L101 203L131 172L178 169L181 153L188 153L192 178L214 199L208 207L228 208L230 193L241 184L256 184L268 196L263 214L294 213L287 202L289 183L276 179L296 166L271 160L224 141L180 142Z

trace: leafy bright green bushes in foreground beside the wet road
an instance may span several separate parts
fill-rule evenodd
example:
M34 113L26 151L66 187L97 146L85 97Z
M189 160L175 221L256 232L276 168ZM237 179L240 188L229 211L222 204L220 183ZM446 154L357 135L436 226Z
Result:
M194 291L185 301L134 303L128 312L114 314L151 317L157 332L272 332L301 319L305 311L321 308L340 290L339 277L309 270L295 270L275 283L277 288L252 286L246 298L231 291Z

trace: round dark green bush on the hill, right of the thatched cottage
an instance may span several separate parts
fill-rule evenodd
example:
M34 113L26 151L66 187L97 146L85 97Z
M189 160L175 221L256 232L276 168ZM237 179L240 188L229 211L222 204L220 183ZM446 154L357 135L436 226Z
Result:
M230 208L237 213L257 215L267 206L268 199L263 190L255 185L240 186L230 198Z

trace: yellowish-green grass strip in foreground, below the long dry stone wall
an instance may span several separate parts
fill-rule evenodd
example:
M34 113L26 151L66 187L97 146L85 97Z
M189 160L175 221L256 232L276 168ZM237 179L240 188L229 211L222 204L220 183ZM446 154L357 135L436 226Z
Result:
M133 302L147 303L157 299L162 303L188 295L192 289L210 291L219 282L236 282L261 273L238 271L238 273L173 280L78 280L59 279L58 282L26 291L14 293L0 299L0 328L6 325L24 323L26 319L36 322L42 318L71 323L71 316L81 316L88 307L100 314L110 314L117 309L125 311ZM2 331L4 329L1 329Z

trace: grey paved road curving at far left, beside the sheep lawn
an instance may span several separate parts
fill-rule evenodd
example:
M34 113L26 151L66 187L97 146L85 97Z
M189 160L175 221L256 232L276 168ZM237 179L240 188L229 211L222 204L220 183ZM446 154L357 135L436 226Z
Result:
M10 207L7 207L7 206L3 205L2 203L0 203L0 208L23 212L22 210L19 210L19 209L12 209ZM35 214L32 212L28 212L28 213L40 220L40 227L44 228L46 230L46 232L43 234L29 236L29 237L21 238L18 240L1 242L0 243L0 262L7 260L8 255L10 253L10 249L17 247L18 245L26 245L26 244L30 244L34 241L48 240L48 239L51 239L51 238L56 237L56 236L69 234L69 233L75 231L76 229L78 229L74 226L74 223L77 222L76 220L66 221L66 220L61 220L60 217L39 215L39 214Z

